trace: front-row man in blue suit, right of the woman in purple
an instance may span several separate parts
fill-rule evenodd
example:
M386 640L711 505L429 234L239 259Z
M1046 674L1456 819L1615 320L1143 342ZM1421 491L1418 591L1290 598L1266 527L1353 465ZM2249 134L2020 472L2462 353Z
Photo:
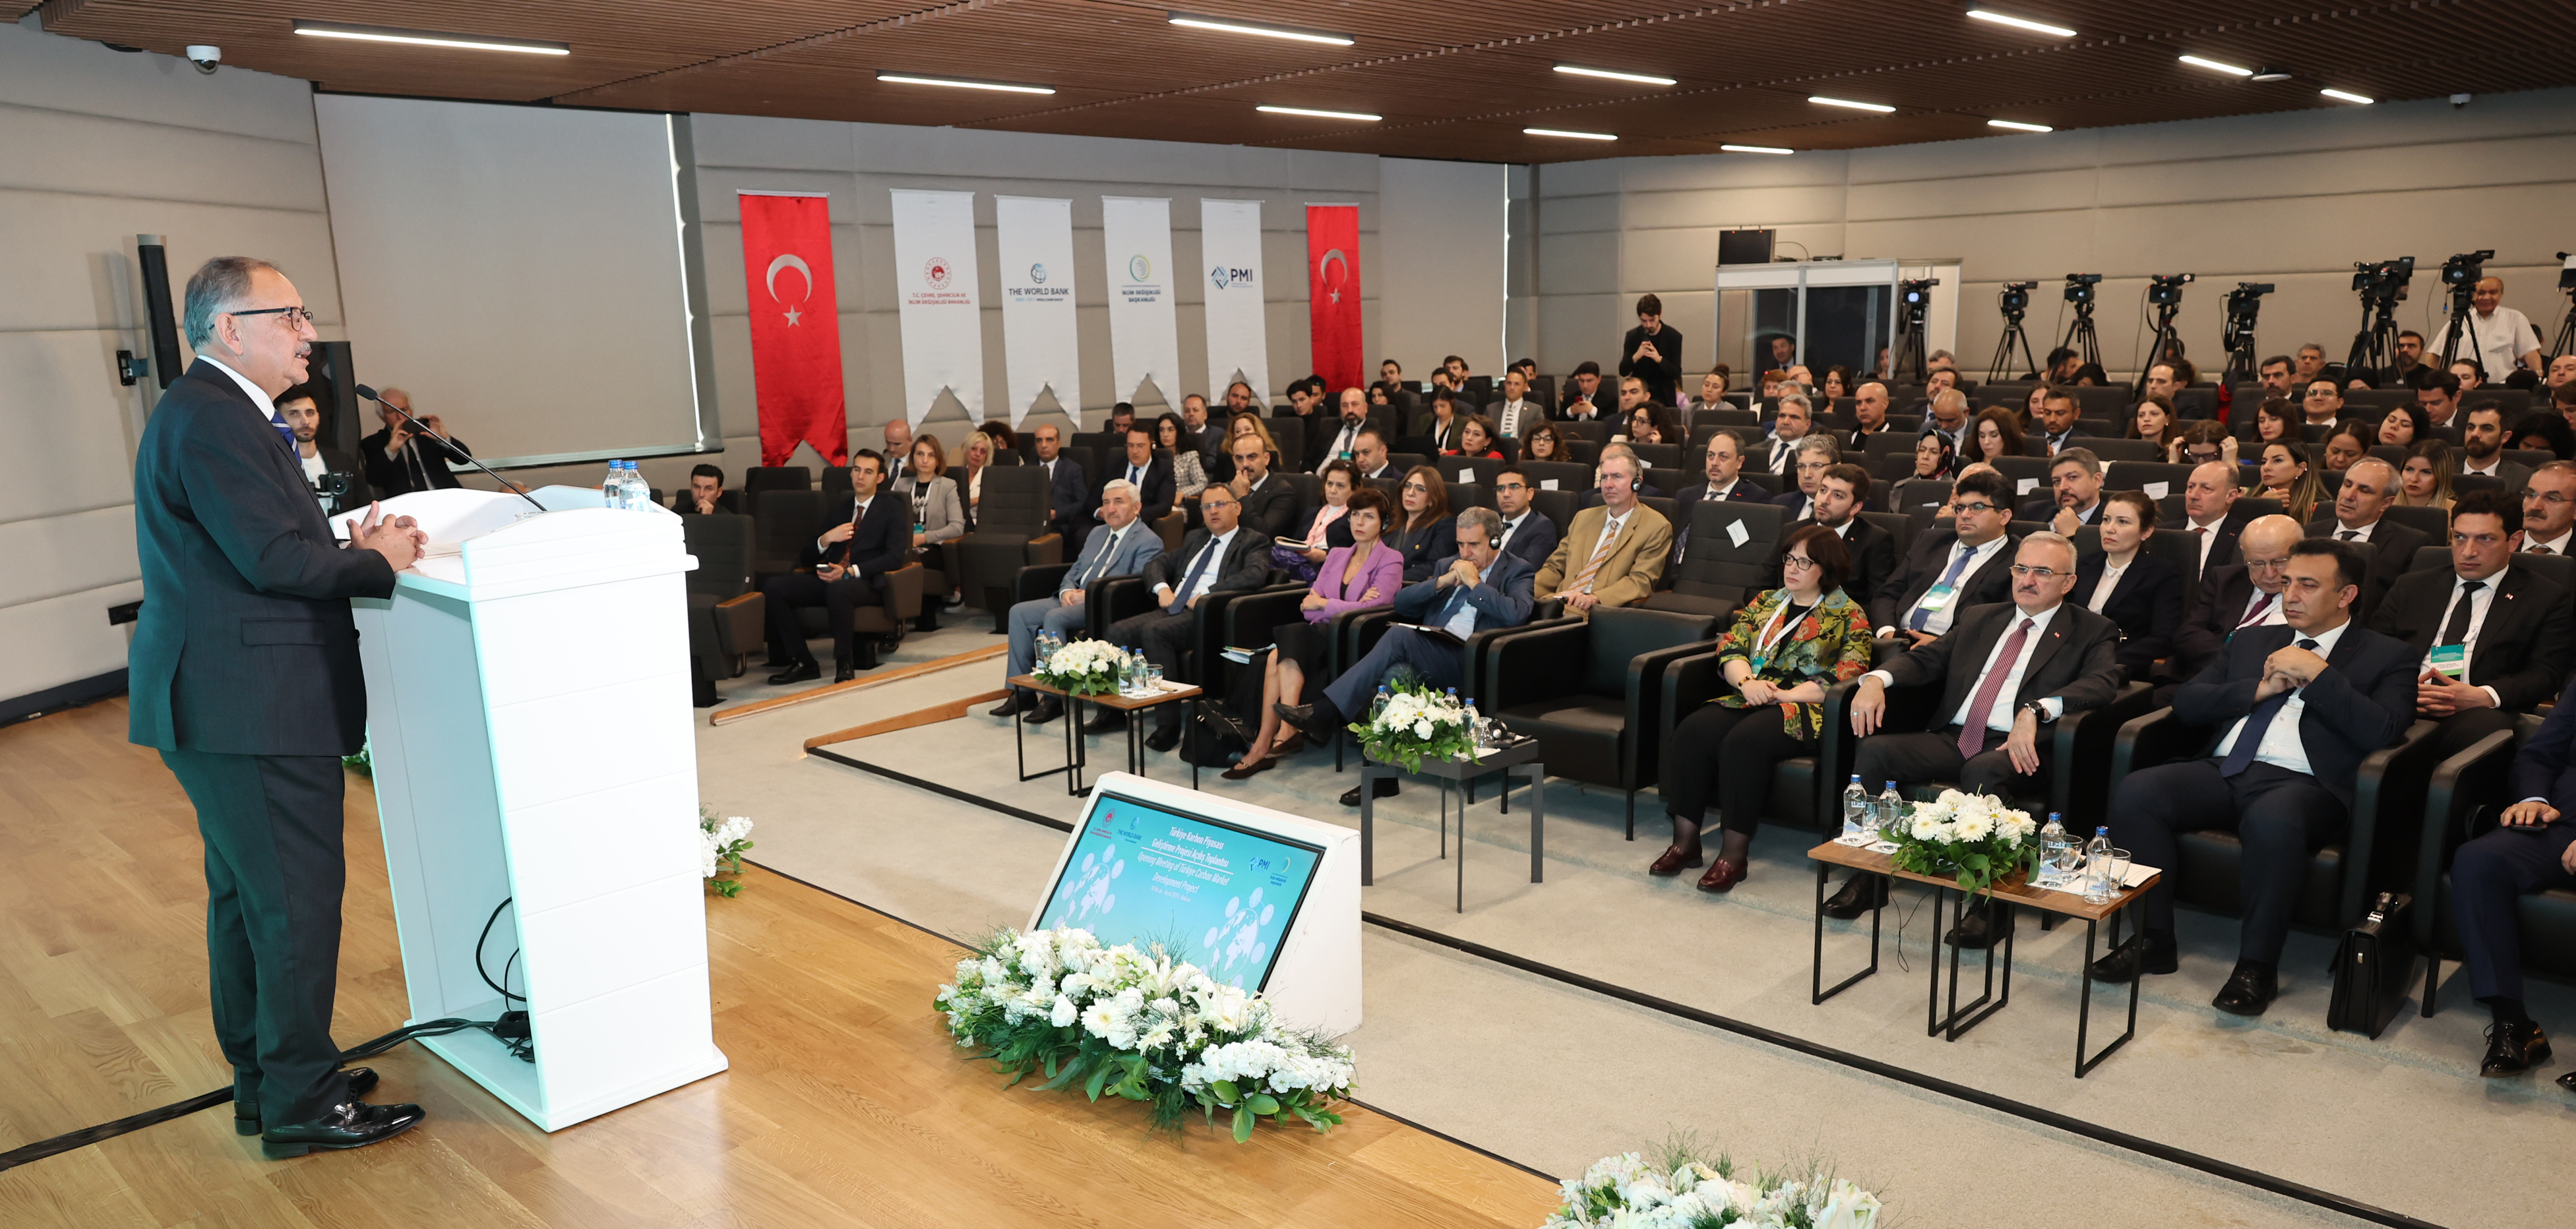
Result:
M1458 513L1458 554L1432 562L1430 580L1417 580L1396 590L1396 618L1419 626L1445 629L1458 642L1497 626L1530 621L1538 605L1530 595L1530 564L1497 551L1494 533L1502 518L1492 508ZM1306 732L1306 742L1329 747L1350 721L1368 719L1368 701L1396 667L1412 670L1432 688L1466 688L1466 647L1443 636L1396 626L1386 629L1378 647L1368 649L1342 678L1334 678L1314 696L1314 703L1280 706L1288 724ZM1394 796L1396 781L1378 781L1378 796ZM1360 791L1342 794L1342 806L1358 806Z

